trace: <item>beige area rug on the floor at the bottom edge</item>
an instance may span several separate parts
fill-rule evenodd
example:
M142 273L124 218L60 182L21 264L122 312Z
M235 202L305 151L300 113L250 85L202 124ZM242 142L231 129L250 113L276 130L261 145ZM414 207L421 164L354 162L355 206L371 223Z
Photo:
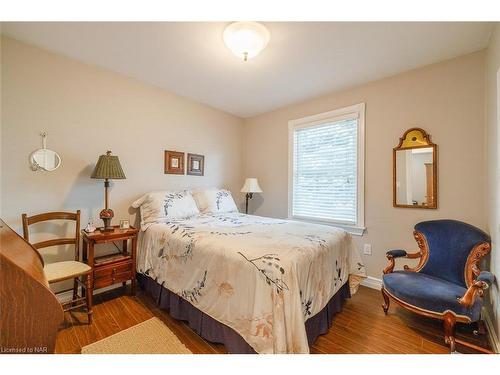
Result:
M84 346L82 354L193 354L158 318Z

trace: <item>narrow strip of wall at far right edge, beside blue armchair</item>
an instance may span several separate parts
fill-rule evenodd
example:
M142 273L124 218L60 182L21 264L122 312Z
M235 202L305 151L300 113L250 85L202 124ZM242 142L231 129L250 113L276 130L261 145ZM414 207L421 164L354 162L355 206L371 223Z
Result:
M491 235L493 250L490 257L490 269L497 278L500 277L500 26L493 31L486 58L486 145L488 151L487 201L488 231ZM490 288L490 315L497 337L500 336L500 303L498 280Z

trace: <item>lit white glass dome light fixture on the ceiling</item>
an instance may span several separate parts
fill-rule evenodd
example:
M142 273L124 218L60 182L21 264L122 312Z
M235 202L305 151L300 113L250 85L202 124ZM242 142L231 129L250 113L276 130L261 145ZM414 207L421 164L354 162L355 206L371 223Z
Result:
M224 43L236 56L247 61L257 56L269 43L269 31L257 22L234 22L226 27Z

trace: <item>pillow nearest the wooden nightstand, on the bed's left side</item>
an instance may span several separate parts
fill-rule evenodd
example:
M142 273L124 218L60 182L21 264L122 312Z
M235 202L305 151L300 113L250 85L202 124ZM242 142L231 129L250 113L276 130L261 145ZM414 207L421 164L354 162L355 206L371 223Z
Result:
M140 207L141 226L185 219L200 213L189 191L153 191L132 203L132 207Z

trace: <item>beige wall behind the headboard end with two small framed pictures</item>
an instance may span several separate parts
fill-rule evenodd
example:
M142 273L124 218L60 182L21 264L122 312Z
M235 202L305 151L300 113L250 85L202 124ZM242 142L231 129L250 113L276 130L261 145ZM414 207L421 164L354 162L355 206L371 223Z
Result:
M224 186L242 199L237 117L9 38L2 39L1 93L2 217L18 231L23 212L81 209L82 225L98 218L103 181L90 173L108 149L127 176L112 183L115 224L133 222L130 203L156 189ZM29 168L42 130L62 158L54 172ZM204 154L205 177L165 175L166 149Z

